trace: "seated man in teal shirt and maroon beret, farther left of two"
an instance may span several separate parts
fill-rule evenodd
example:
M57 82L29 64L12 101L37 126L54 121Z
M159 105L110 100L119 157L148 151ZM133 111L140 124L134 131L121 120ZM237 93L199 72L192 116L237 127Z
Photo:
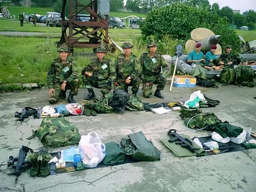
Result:
M193 63L201 65L205 62L204 54L201 52L202 45L197 43L195 45L195 50L189 53L187 64L192 65ZM204 64L203 64L204 65Z

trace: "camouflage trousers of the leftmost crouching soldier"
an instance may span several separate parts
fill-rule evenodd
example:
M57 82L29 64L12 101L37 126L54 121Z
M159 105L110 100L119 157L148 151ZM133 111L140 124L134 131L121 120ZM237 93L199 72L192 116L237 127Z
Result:
M54 85L54 90L55 93L52 97L49 98L49 103L54 104L56 103L59 99L66 99L66 90L70 90L71 95L77 95L78 94L78 89L80 86L79 80L75 79L72 82L67 82L65 91L61 90L61 82L55 83Z

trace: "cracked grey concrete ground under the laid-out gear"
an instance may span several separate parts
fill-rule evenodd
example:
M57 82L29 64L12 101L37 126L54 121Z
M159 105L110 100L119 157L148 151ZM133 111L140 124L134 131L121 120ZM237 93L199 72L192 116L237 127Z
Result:
M215 108L203 109L214 112L221 120L241 126L255 128L256 96L255 88L223 86L214 88L174 88L164 90L163 100L151 97L144 102L187 100L192 92L201 90L212 99L220 100ZM85 89L79 92L77 102L81 102ZM99 94L99 90L97 90ZM142 93L138 96L142 98ZM62 103L65 101L62 100ZM116 141L129 133L143 131L161 151L161 161L140 162L109 166L91 170L31 178L28 171L19 176L8 176L7 160L17 156L21 145L34 150L43 147L38 138L26 140L31 130L38 128L42 119L20 123L14 118L15 111L22 107L43 107L48 105L47 89L22 93L0 94L0 191L48 192L48 191L87 191L87 192L255 192L256 189L256 150L244 150L206 157L176 157L159 140L166 137L170 128L185 130L179 112L153 114L152 112L124 112L123 114L100 114L96 117L69 117L81 135L96 131L103 142ZM184 131L194 136L209 135L207 131ZM61 149L49 149L57 151Z

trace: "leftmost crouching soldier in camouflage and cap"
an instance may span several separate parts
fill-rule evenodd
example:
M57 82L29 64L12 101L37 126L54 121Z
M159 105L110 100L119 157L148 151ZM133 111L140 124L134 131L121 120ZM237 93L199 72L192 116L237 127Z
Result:
M59 99L66 99L66 90L70 89L67 102L75 103L73 97L78 94L80 86L77 64L68 57L69 47L66 45L61 45L58 52L59 58L54 60L47 74L49 102L54 104Z

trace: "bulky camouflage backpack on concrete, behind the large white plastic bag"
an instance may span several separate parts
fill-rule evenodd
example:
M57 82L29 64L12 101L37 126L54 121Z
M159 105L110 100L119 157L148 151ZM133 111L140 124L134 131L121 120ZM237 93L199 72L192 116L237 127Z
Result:
M27 139L35 136L48 147L78 144L81 138L78 128L64 117L43 119L38 130L33 131L33 135Z

